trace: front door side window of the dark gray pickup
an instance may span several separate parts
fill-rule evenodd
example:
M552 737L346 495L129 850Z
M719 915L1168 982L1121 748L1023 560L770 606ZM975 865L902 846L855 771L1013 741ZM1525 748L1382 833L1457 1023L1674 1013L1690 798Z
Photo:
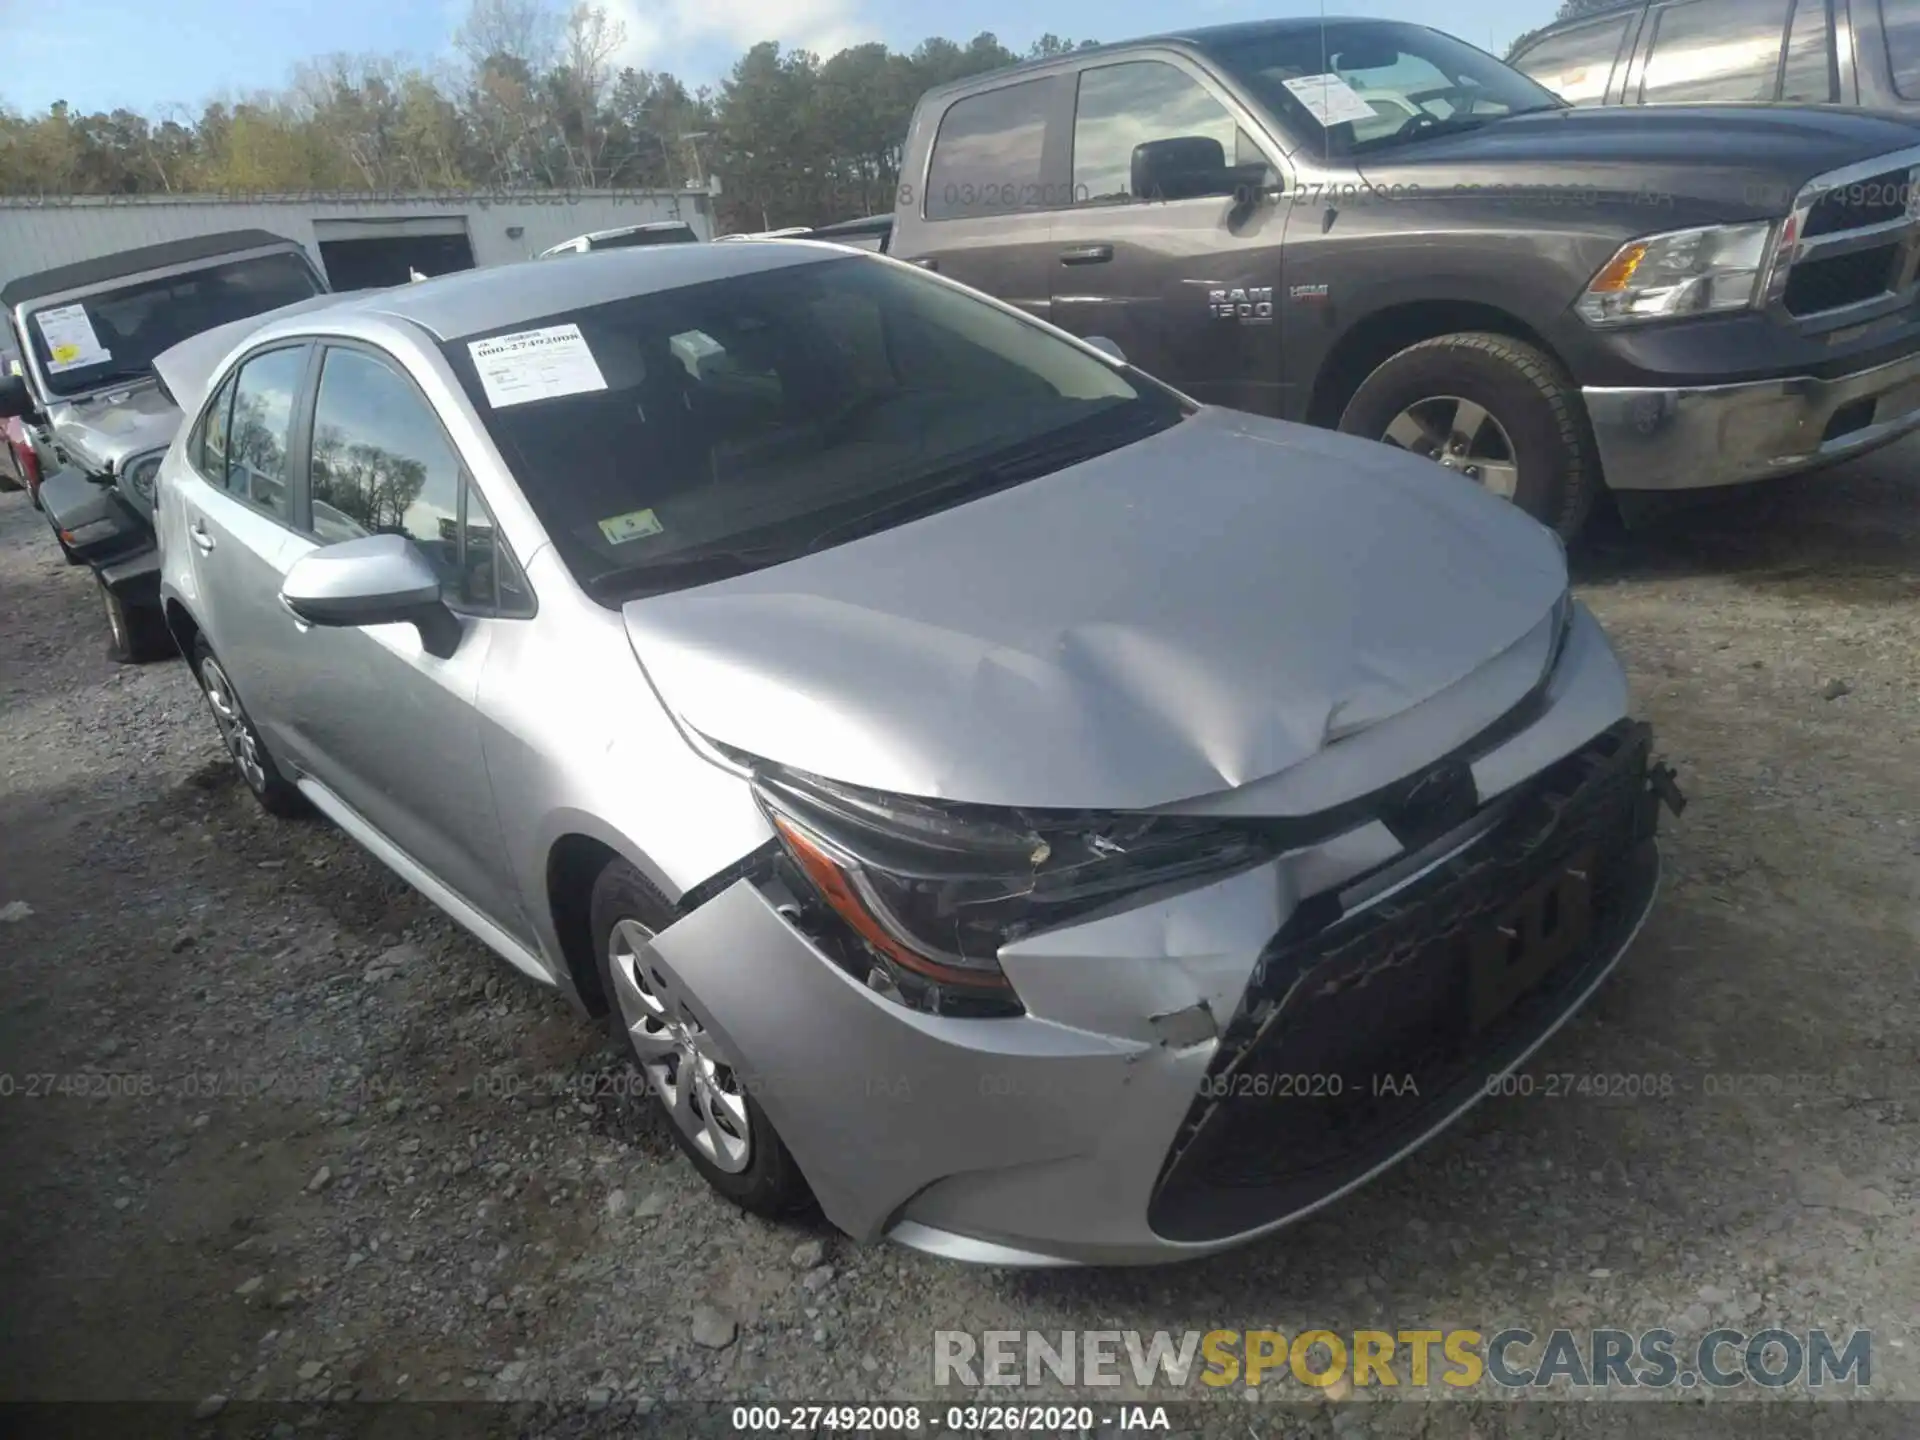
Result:
M1133 194L1133 148L1188 134L1217 140L1233 165L1261 157L1206 86L1162 60L1083 71L1073 109L1075 204L1140 200Z

